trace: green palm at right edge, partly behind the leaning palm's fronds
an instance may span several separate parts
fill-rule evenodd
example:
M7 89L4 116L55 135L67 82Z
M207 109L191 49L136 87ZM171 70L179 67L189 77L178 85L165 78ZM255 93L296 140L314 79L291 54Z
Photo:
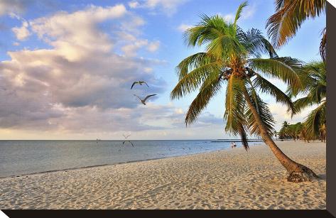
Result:
M296 91L288 89L288 93L292 96L297 94L305 94L305 97L297 99L293 104L296 110L317 105L313 111L306 117L303 125L306 127L307 134L313 137L323 138L325 136L326 125L326 107L327 107L327 78L325 62L310 62L302 68L301 81L303 87ZM322 133L321 133L322 131Z

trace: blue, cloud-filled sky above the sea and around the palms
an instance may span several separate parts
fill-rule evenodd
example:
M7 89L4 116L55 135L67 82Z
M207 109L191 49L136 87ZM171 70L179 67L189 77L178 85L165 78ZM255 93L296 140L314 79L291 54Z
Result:
M183 43L183 31L202 13L231 20L240 0L56 1L0 0L1 139L210 139L224 131L224 89L195 124L184 118L196 93L170 99L175 66L202 51ZM258 28L274 12L271 0L250 0L238 25ZM277 51L320 60L325 14L308 20ZM149 87L136 86L145 80ZM271 80L281 89L286 86ZM134 94L152 97L143 105ZM296 123L286 107L262 95L276 120Z

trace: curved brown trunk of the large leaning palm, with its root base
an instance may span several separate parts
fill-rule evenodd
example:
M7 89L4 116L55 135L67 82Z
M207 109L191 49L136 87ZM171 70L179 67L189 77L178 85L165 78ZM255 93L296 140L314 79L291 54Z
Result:
M247 104L249 105L249 108L251 109L254 118L256 119L256 123L259 126L261 138L263 138L264 142L266 143L269 148L271 148L271 151L273 151L274 155L278 160L280 161L281 165L283 165L284 168L289 173L289 176L287 180L289 182L304 182L304 181L310 181L313 178L318 178L318 176L313 172L313 170L310 170L310 168L307 168L304 165L301 165L300 163L296 163L294 160L291 160L291 158L288 158L286 154L284 154L278 146L276 146L276 143L272 140L271 136L269 136L269 133L267 132L264 123L261 121L261 118L256 111L256 108L251 102L251 99L249 97L249 93L245 89L244 91L244 98L246 99Z

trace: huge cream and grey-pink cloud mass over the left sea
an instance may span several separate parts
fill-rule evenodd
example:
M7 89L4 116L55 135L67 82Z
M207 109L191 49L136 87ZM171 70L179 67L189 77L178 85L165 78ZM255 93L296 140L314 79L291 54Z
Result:
M124 23L134 18L123 5L116 5L62 11L29 21L34 36L51 48L9 51L10 60L0 62L4 89L0 129L77 133L158 129L139 121L146 111L129 90L134 80L146 80L150 84L146 92L162 93L165 82L148 73L162 61L116 53L125 42L151 44L136 38L136 33L122 37ZM98 28L105 21L112 22L112 33ZM137 88L132 92L145 94Z

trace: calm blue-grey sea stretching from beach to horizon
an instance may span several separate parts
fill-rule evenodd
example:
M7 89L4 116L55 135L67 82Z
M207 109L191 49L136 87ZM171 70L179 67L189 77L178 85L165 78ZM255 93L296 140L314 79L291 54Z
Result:
M230 148L230 141L215 140L132 141L134 147L122 142L0 141L0 178Z

